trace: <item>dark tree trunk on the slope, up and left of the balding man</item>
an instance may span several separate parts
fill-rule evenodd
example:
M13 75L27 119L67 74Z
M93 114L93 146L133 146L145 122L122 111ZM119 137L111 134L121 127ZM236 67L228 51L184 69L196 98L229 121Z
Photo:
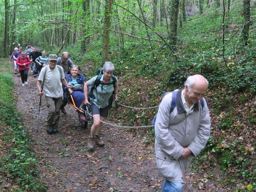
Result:
M170 3L170 44L175 48L177 44L177 33L178 33L178 13L180 7L180 0L173 0Z

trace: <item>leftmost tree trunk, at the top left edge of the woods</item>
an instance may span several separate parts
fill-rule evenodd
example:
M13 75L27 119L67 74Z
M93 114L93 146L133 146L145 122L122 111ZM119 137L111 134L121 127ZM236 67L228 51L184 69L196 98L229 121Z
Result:
M7 56L8 52L8 42L9 42L9 1L4 0L4 10L5 10L5 22L4 22L4 42L3 42L3 55Z

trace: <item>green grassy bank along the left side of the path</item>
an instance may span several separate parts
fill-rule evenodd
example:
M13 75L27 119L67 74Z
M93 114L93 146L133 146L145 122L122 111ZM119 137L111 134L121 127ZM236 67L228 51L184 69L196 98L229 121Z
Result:
M38 180L31 137L21 123L13 96L14 82L8 59L0 59L0 191L43 192Z

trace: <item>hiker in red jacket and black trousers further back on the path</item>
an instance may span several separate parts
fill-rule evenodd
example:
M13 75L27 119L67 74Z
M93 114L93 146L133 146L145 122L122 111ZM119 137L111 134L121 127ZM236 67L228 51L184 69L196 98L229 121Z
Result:
M26 55L25 51L22 51L20 56L17 58L17 65L19 65L20 77L22 81L22 86L28 85L28 69L31 63L29 57Z

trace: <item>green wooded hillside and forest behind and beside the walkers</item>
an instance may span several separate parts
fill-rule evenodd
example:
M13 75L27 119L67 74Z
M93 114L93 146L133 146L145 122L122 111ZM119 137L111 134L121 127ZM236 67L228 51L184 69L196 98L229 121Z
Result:
M0 57L18 43L69 51L88 79L112 61L118 102L131 107L156 106L189 75L204 75L212 131L191 170L208 172L202 184L256 191L255 7L255 0L1 0ZM150 125L156 112L119 107L110 119ZM152 127L129 131L154 142ZM225 179L211 174L214 167Z

